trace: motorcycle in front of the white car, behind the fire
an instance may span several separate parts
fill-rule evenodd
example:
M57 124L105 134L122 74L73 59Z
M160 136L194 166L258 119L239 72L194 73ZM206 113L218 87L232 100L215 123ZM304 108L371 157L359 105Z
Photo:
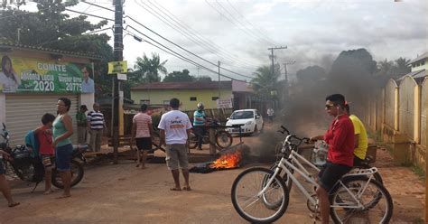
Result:
M205 135L202 138L202 144L209 144L209 128L214 128L215 130L215 144L219 146L220 149L227 148L232 145L232 135L230 135L224 128L219 127L221 124L215 119L211 119L205 123ZM191 132L190 135L190 148L196 148L198 146L198 134Z

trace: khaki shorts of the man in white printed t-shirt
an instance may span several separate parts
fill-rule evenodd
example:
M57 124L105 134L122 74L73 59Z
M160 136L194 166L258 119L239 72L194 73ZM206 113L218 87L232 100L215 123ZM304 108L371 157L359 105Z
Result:
M189 161L187 158L187 147L185 144L166 145L165 152L165 161L168 166L168 170L177 170L179 166L181 169L188 169Z

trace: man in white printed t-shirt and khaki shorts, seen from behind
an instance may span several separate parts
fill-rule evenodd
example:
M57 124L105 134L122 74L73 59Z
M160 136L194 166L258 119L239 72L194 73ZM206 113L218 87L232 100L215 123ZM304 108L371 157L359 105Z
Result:
M187 158L191 121L186 114L179 110L180 100L178 98L170 100L170 107L172 107L172 110L163 114L158 126L161 135L161 145L166 145L166 165L171 171L175 182L175 186L170 190L181 191L180 167L184 177L184 187L182 190L191 191L191 186L189 185L189 161Z

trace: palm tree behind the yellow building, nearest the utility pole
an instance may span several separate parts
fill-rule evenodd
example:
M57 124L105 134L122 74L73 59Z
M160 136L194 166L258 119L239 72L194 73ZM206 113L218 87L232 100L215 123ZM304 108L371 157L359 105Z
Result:
M134 65L135 79L138 82L158 82L161 81L159 72L166 74L167 70L165 68L165 63L167 61L162 61L159 54L152 52L152 59L147 58L143 55L143 58L137 57Z

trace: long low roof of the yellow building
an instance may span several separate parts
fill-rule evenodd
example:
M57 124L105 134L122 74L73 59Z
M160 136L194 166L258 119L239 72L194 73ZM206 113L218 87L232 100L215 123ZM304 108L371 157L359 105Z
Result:
M131 90L149 89L232 89L232 81L183 81L144 83Z

